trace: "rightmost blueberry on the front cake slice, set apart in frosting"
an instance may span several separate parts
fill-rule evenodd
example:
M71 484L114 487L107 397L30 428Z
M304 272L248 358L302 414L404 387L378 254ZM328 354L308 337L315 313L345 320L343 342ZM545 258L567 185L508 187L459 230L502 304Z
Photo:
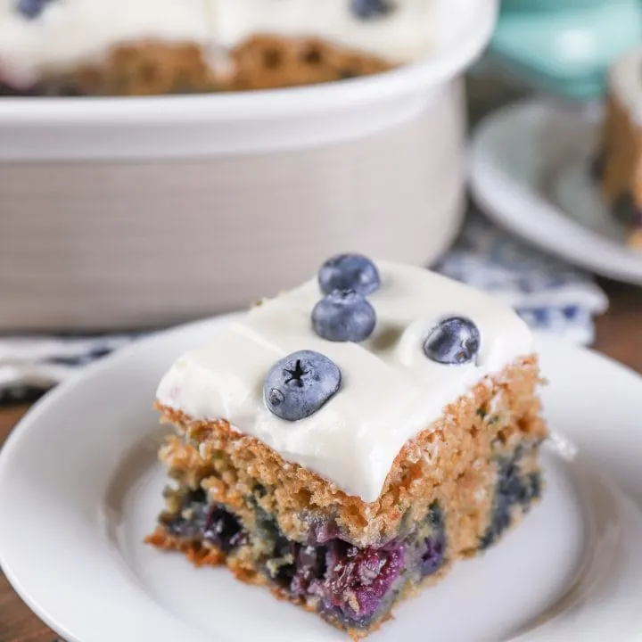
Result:
M480 343L480 331L470 319L448 317L432 328L424 342L424 353L437 363L462 366L474 361Z

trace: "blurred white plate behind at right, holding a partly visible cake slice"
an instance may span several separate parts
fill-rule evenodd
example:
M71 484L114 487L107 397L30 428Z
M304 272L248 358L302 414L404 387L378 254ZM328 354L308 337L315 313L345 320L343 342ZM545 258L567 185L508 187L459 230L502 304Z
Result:
M598 116L539 102L494 112L473 135L473 199L534 245L599 275L642 284L642 252L626 246L626 230L590 177Z

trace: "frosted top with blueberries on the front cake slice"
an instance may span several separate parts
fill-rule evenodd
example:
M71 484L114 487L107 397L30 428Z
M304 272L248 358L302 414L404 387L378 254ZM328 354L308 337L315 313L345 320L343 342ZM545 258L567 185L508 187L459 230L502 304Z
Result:
M532 337L512 309L464 284L421 268L364 266L355 286L364 295L325 296L333 278L346 284L341 269L322 271L179 358L159 386L161 405L225 419L374 501L407 440L483 377L530 354Z

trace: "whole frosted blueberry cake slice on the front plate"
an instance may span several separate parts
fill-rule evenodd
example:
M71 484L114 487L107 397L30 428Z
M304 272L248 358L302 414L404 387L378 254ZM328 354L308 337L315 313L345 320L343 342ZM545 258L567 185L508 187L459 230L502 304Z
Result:
M531 333L420 268L346 254L178 359L148 542L354 639L539 499Z

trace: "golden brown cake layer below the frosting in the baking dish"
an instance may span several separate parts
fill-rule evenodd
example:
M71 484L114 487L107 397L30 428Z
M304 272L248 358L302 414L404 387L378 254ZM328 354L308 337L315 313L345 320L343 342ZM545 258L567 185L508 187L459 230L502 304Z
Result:
M95 63L53 73L29 92L4 87L4 95L168 95L276 89L357 78L391 69L367 55L317 38L255 36L229 52L220 67L189 43L120 45ZM0 91L2 95L2 91Z

